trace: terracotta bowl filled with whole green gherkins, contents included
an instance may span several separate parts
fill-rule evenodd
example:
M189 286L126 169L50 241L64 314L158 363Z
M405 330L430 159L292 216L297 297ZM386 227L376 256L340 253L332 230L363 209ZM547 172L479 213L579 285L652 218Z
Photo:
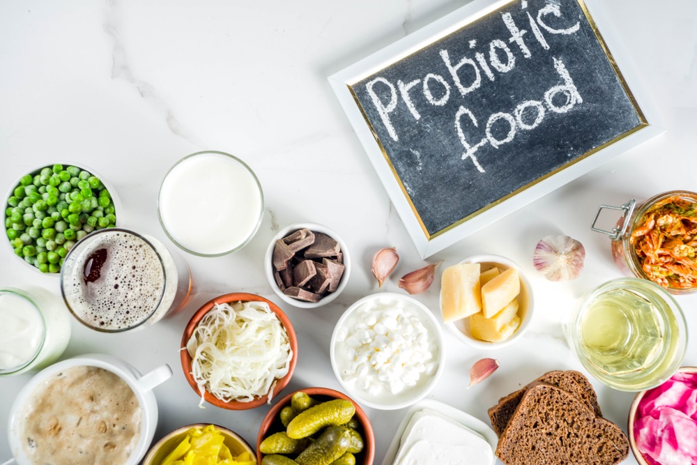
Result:
M280 399L261 422L259 464L372 465L375 437L360 406L342 392L305 388ZM321 462L317 462L321 460Z

